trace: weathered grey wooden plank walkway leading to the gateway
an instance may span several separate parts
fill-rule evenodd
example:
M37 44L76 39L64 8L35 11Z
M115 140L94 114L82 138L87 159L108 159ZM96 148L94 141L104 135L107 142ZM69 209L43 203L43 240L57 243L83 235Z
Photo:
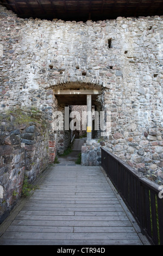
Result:
M120 201L101 167L51 166L0 245L145 244Z

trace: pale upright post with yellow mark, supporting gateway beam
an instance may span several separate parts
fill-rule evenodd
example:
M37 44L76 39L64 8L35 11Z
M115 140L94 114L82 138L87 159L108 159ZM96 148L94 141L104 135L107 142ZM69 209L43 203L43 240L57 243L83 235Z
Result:
M87 141L92 139L92 100L91 95L86 95L87 103Z

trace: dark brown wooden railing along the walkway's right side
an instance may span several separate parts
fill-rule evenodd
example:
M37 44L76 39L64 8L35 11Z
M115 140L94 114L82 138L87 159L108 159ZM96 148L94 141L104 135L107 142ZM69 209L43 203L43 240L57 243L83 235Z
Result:
M102 148L102 167L153 245L163 245L163 198L160 186Z

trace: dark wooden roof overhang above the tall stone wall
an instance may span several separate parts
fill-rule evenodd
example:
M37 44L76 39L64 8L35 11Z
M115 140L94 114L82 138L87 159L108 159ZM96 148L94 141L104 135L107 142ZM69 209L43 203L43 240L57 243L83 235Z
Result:
M19 17L47 20L98 21L163 15L162 0L0 0L0 4Z

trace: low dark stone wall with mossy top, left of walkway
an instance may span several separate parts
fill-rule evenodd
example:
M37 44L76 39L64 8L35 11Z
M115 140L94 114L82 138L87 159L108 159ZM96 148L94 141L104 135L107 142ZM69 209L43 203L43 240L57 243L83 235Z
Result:
M0 115L0 223L20 199L24 177L32 184L48 166L47 125L40 113L29 113Z

